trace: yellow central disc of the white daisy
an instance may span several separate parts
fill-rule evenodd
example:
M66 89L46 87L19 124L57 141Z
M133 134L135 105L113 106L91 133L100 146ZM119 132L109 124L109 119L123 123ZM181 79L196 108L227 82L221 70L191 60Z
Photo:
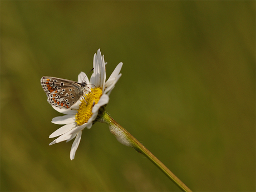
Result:
M92 107L97 104L102 95L101 88L93 88L90 93L86 94L82 103L79 106L78 112L76 114L76 123L82 125L88 122L92 116Z

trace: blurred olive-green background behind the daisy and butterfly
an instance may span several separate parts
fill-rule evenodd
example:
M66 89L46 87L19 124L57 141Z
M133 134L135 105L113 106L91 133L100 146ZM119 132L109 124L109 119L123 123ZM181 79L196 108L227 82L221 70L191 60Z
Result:
M48 146L41 77L99 48L112 118L191 190L255 191L255 1L1 1L1 191L180 191L106 124Z

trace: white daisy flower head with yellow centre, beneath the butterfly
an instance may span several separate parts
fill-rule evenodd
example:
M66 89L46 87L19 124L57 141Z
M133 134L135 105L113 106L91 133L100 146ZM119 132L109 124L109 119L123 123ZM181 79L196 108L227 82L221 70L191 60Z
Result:
M53 140L49 145L65 140L69 142L73 138L76 138L70 151L71 160L75 158L76 150L81 140L82 130L85 128L90 129L92 124L101 117L105 111L106 104L109 103L111 90L121 77L120 70L122 63L119 63L106 81L105 64L104 55L101 57L99 49L93 58L94 69L90 81L85 73L81 72L78 75L79 83L86 82L87 85L91 85L90 90L85 93L83 99L78 100L77 103L73 104L72 107L68 109L60 109L53 105L54 109L66 115L52 119L52 123L61 124L63 126L50 135L49 138L60 137Z

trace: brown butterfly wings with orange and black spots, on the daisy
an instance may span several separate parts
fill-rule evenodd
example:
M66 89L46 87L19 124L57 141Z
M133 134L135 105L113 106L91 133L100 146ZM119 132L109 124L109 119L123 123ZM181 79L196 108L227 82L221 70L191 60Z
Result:
M77 102L86 90L86 83L56 77L42 77L41 85L47 101L58 108L68 109Z

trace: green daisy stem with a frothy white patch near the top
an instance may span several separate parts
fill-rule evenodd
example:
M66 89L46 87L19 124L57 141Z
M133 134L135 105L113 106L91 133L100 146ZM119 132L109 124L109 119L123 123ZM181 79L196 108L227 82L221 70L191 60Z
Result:
M145 148L137 139L135 139L127 130L112 119L109 114L104 112L102 117L98 120L101 123L109 125L110 132L115 135L116 139L127 146L131 146L136 151L144 154L147 159L154 163L163 173L168 176L181 190L191 191L179 178L177 178L159 159L157 159L148 149Z

